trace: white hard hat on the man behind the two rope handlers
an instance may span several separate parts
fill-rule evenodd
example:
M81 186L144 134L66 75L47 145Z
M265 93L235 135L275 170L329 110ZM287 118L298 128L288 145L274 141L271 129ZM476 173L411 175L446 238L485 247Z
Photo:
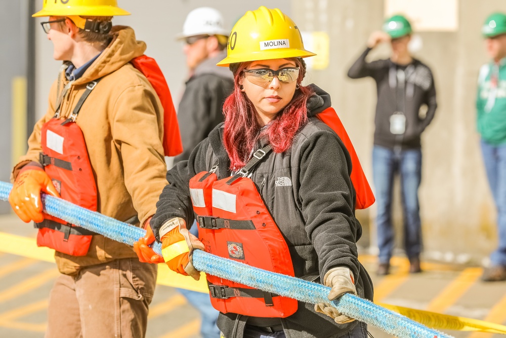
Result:
M221 13L210 7L199 7L188 13L183 25L183 32L178 34L178 39L184 39L195 35L225 35L230 31L224 28Z

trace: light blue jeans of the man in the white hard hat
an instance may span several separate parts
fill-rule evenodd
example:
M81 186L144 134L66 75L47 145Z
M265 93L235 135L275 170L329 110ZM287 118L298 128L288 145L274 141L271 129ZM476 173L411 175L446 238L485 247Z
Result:
M197 222L193 222L190 233L198 236ZM200 335L202 338L219 338L220 329L216 326L218 319L218 310L213 308L208 293L178 289L195 309L200 312L202 324L200 325Z

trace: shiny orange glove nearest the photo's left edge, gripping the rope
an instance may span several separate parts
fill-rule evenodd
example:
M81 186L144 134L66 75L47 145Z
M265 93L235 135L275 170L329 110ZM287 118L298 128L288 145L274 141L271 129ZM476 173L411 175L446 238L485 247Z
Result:
M9 194L9 203L24 222L33 220L40 223L44 220L40 192L54 197L60 197L60 194L44 169L32 165L27 165L25 168L19 172L14 181Z

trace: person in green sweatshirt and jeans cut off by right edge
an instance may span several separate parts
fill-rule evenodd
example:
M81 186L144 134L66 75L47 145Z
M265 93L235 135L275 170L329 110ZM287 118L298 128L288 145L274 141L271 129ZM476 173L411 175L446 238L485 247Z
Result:
M480 69L476 98L477 127L490 190L497 208L498 245L481 279L506 280L506 15L493 13L482 27L492 59Z

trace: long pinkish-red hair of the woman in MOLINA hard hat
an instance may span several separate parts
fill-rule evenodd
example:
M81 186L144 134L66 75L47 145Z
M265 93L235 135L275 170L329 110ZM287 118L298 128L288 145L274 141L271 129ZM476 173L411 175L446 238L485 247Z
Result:
M300 68L297 83L300 85L306 74L306 64L301 58L291 58ZM242 70L249 62L231 65L234 73L234 91L225 100L223 112L225 114L225 126L223 143L230 158L230 169L236 170L243 167L256 142L266 137L271 144L274 153L286 152L293 142L293 137L304 126L308 120L307 101L314 95L309 87L300 85L296 90L290 103L278 112L268 128L260 134L260 125L257 121L257 110L248 99L246 94L240 90L239 81L242 77Z

